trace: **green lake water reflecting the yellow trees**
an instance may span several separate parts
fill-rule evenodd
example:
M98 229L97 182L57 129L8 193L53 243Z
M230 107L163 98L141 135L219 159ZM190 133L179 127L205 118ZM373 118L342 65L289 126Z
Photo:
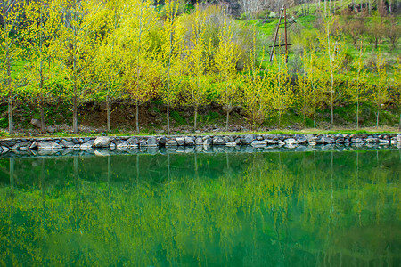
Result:
M401 150L0 159L1 266L400 266Z

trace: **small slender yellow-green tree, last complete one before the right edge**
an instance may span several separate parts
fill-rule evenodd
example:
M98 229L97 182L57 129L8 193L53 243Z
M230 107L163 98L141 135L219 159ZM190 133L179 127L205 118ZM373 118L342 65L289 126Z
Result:
M372 85L371 99L376 105L376 127L379 128L379 114L381 107L389 101L389 77L386 71L385 60L381 53L377 53L376 62L374 63L377 79Z

